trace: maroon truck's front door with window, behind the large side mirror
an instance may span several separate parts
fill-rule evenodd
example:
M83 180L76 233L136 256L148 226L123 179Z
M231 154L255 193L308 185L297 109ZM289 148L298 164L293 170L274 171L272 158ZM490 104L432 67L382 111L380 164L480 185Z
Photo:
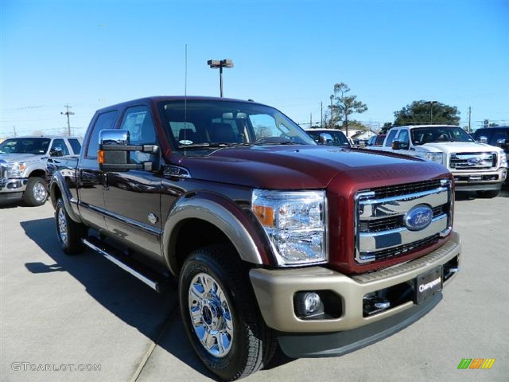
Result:
M146 105L127 108L120 128L129 131L132 145L159 145L153 118ZM154 159L154 155L132 152L130 160L141 163ZM162 231L159 170L108 172L104 189L108 231L120 241L129 242L130 247L155 258L160 258Z

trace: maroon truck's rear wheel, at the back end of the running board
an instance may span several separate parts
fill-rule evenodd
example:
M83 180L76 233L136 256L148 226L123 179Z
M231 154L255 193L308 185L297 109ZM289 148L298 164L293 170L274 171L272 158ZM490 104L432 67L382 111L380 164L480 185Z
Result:
M84 245L81 239L86 236L87 228L74 222L67 213L64 201L60 198L55 205L56 236L60 246L68 255L82 252Z

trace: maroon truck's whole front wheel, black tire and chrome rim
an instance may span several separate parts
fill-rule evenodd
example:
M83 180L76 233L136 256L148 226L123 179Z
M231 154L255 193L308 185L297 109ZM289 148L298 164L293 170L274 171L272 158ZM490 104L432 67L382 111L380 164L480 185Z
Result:
M248 280L248 269L226 245L193 251L180 275L187 336L200 360L222 380L254 373L276 348Z

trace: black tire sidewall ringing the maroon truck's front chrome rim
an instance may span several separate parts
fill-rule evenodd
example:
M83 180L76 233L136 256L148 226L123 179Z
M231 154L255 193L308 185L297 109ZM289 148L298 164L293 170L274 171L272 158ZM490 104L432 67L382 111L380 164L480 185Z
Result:
M189 285L193 277L200 273L208 274L214 278L227 297L230 307L230 314L233 321L233 342L230 352L223 358L212 356L212 354L204 348L199 338L196 336L191 323L189 315ZM224 275L224 272L218 264L216 264L213 259L204 255L192 255L184 265L180 275L179 297L181 315L188 338L200 359L208 368L223 379L232 379L236 371L244 368L248 357L248 341L246 340L244 326L242 325L239 309L234 298L235 289L236 287L229 282L228 277Z

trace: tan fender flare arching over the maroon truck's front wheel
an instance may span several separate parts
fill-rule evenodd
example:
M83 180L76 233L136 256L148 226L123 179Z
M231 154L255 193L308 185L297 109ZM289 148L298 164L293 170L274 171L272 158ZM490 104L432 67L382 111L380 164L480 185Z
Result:
M234 202L211 193L182 196L166 217L161 240L164 259L174 275L178 275L176 242L178 227L188 219L206 221L222 231L232 242L240 258L253 264L269 264L270 247L263 228L253 226L245 212ZM262 231L260 231L262 230Z

